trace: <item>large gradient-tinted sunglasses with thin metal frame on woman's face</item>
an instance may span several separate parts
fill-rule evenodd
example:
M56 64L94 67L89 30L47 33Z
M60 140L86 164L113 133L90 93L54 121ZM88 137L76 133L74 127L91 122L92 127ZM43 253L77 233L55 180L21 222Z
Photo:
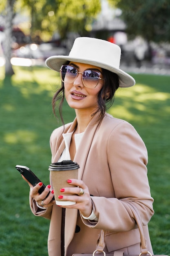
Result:
M95 88L99 80L104 80L100 77L101 72L97 70L84 70L79 72L76 67L70 65L62 65L60 69L60 77L64 83L73 83L77 76L82 74L82 82L87 88Z

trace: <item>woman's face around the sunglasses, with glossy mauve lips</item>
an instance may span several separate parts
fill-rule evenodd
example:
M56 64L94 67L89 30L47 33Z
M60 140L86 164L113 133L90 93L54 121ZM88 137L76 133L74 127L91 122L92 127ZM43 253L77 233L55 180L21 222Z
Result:
M101 68L89 64L70 62L69 65L76 67L78 72L88 69L97 69L102 72ZM100 76L103 78L102 74ZM71 108L92 112L98 106L97 96L103 85L104 80L99 79L95 88L87 88L82 82L82 74L79 73L73 83L64 83L66 101Z

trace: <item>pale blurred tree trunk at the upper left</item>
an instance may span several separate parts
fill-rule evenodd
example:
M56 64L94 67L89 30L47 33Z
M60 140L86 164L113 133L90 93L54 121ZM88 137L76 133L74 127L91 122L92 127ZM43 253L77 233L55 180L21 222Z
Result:
M13 75L13 68L11 65L11 54L12 54L12 29L13 29L13 4L15 0L7 0L6 6L6 20L5 20L5 40L4 40L4 56L5 56L5 75Z

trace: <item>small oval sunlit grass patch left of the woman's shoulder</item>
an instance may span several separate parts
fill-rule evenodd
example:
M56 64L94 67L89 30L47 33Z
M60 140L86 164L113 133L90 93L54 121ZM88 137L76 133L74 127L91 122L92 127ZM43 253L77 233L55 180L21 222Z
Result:
M7 132L4 135L4 141L9 144L31 143L35 141L37 135L30 130L16 130L15 132Z

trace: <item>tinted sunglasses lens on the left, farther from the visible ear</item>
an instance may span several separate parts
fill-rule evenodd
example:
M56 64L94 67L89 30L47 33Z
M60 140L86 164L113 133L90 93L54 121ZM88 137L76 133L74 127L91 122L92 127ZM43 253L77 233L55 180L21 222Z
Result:
M72 83L77 76L77 69L69 65L63 65L60 76L63 82Z

